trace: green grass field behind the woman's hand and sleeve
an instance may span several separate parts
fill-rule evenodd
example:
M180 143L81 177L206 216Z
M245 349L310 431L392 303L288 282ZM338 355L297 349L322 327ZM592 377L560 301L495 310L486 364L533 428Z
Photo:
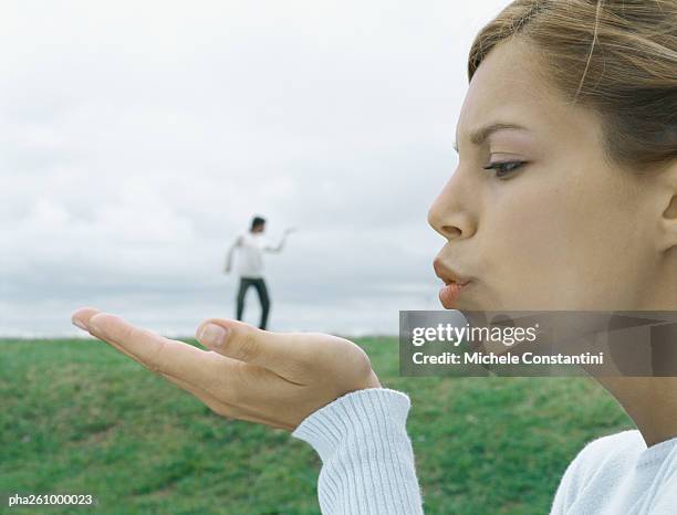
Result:
M583 444L633 427L587 378L400 378L395 338L356 341L412 397L426 514L548 513ZM0 494L98 500L15 513L320 513L320 461L287 432L221 419L101 341L0 349Z

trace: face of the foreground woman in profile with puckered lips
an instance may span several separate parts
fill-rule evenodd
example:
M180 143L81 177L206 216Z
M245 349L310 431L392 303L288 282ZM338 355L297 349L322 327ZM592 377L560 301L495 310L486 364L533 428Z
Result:
M642 178L605 160L597 116L534 66L524 42L503 42L470 83L459 165L429 212L448 241L436 269L470 278L446 307L654 308L655 206ZM500 162L514 165L483 169Z

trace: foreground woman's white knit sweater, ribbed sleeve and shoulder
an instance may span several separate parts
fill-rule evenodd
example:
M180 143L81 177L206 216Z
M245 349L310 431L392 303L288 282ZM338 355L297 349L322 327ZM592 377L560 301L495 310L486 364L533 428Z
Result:
M423 514L406 432L409 398L358 390L308 417L292 433L320 454L325 515ZM637 430L592 441L569 464L551 515L676 515L677 438L646 448Z

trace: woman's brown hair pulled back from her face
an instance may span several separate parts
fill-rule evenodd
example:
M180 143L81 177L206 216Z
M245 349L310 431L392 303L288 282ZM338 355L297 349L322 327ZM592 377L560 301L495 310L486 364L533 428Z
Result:
M677 0L515 0L476 36L468 80L512 36L602 117L611 161L640 172L677 158Z

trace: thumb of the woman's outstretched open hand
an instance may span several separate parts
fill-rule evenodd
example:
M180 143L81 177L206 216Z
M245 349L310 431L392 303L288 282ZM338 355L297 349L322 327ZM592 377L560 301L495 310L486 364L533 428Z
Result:
M220 318L201 323L196 338L221 356L267 368L288 380L301 372L311 351L310 335L273 333Z

